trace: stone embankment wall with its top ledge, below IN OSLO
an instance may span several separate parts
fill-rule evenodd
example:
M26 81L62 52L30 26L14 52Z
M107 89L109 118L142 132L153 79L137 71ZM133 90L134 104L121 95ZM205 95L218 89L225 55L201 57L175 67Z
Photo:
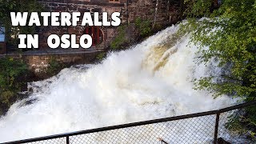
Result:
M0 58L18 58L26 62L31 70L39 79L50 78L53 75L46 74L51 61L56 61L65 67L94 63L98 54L105 50L30 50L22 53L1 54Z

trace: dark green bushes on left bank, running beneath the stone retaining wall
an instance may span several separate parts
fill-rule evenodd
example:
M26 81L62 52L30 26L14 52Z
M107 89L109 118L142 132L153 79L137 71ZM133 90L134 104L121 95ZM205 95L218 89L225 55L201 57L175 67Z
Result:
M14 102L26 98L26 94L20 92L27 90L27 82L50 78L65 67L67 65L52 58L46 74L35 75L22 58L0 58L0 116L6 114Z

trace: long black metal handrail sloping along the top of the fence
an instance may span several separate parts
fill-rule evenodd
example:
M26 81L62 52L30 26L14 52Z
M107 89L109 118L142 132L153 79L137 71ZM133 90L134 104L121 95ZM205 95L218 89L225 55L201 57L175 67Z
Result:
M38 141L44 141L44 140L54 139L54 138L69 138L70 136L79 135L79 134L90 134L90 133L97 133L97 132L107 131L107 130L117 130L117 129L127 128L127 127L149 125L149 124L154 124L159 122L170 122L170 121L176 121L180 119L196 118L196 117L213 115L213 114L221 114L230 110L237 110L237 109L244 108L246 106L253 106L253 105L256 105L256 101L246 102L246 103L238 104L236 106L226 107L220 110L212 110L212 111L206 111L206 112L196 113L196 114L185 114L185 115L180 115L180 116L170 117L170 118L159 118L159 119L143 121L143 122L133 122L133 123L127 123L127 124L122 124L117 126L106 126L106 127L96 128L91 130L81 130L81 131L76 131L71 133L56 134L56 135L50 135L46 137L39 137L39 138L30 138L30 139L24 139L24 140L14 141L14 142L4 142L2 144L38 142Z

